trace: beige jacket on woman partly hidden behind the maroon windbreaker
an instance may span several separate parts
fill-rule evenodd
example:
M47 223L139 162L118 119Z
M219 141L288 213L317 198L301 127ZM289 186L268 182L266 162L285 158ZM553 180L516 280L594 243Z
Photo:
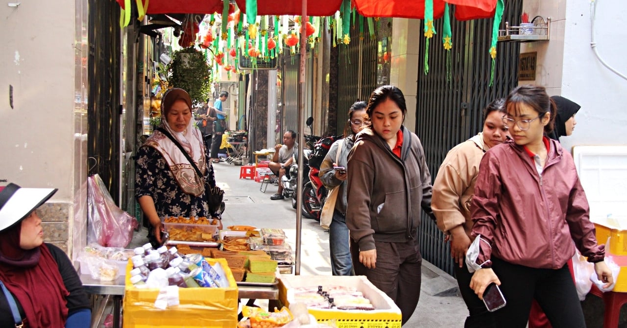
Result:
M438 228L448 233L458 225L464 225L470 236L473 222L470 218L470 202L475 193L479 163L485 149L482 132L456 145L448 151L438 176L433 183L431 209Z

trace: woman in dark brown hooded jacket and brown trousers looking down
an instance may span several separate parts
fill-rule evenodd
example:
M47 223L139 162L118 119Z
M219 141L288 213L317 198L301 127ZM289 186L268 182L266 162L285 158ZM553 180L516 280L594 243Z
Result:
M420 209L431 212L431 176L423 146L403 126L407 113L399 88L372 92L370 120L349 152L346 225L356 275L365 275L401 309L403 324L420 297Z

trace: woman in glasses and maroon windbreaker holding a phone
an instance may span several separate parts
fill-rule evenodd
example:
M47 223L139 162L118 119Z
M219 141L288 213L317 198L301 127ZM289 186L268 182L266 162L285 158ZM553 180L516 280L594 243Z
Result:
M472 199L470 288L482 299L490 283L500 286L507 305L486 316L493 327L525 327L533 299L555 327L585 327L566 265L573 246L594 263L605 287L613 277L571 154L544 136L553 129L555 104L544 87L522 85L505 108L513 140L483 156Z

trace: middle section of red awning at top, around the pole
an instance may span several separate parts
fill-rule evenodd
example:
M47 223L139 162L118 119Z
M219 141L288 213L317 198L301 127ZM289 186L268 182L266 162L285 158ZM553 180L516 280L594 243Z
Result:
M235 0L242 13L246 13L246 0ZM307 1L307 16L331 16L340 10L342 0L309 0ZM257 14L263 15L301 15L302 3L300 0L257 0Z

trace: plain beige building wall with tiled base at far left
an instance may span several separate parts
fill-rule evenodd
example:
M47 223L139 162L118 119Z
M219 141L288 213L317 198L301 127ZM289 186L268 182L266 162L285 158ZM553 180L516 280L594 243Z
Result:
M67 250L75 191L75 0L5 4L0 16L0 179L59 189L40 214L50 221L46 240Z

